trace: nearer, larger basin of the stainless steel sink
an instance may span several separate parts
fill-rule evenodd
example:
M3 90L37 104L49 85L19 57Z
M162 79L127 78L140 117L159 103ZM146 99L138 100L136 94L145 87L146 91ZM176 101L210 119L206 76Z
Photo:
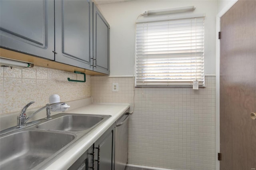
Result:
M74 134L26 130L0 140L1 170L28 170L74 140Z

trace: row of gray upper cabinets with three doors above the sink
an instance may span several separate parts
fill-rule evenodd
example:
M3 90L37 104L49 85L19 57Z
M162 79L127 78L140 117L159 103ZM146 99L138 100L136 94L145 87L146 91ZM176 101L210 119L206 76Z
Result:
M0 47L109 74L109 38L91 0L0 0Z

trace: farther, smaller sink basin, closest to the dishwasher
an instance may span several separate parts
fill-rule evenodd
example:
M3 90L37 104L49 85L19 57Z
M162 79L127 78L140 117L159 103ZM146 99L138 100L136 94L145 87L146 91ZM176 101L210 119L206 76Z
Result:
M64 115L62 117L42 123L38 125L37 128L49 130L82 131L95 126L103 119L104 117L95 115Z

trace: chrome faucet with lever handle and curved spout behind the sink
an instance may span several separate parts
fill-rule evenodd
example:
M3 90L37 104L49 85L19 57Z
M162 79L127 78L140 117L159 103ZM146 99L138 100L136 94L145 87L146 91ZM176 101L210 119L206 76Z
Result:
M50 113L50 106L52 106L52 105L59 105L59 104L64 105L64 104L65 104L65 102L47 104L46 106L44 106L44 107L38 109L37 111L35 111L32 115L30 115L30 116L27 118L27 116L26 116L26 110L27 110L28 107L29 107L31 104L33 104L33 103L35 103L35 102L34 102L34 101L31 101L30 103L28 103L28 104L22 109L20 115L19 115L18 118L17 118L17 128L25 127L25 126L26 126L26 122L27 122L30 118L32 118L34 115L36 115L36 113L42 111L42 110L45 109L45 108L46 108L46 119L51 119L51 117L50 117L50 115L51 115L51 113Z

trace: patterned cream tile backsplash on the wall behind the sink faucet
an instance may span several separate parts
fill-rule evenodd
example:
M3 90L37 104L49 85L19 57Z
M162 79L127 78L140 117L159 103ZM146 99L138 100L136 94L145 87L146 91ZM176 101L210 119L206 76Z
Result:
M52 94L60 95L61 101L90 96L90 75L85 83L69 82L68 77L84 79L80 74L45 67L0 67L0 114L20 111L30 101L35 101L30 108L44 106Z

